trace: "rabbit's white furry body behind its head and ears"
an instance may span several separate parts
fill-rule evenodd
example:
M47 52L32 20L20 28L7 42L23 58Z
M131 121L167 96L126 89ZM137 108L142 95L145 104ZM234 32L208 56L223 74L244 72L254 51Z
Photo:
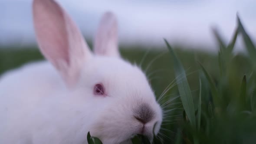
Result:
M58 141L58 133L62 136L75 134L71 129L69 132L61 130L67 121L67 124L72 123L74 116L63 109L66 96L58 94L67 94L63 93L63 84L49 62L31 63L4 74L0 79L0 143L48 144ZM59 105L54 100L58 97L63 100L58 101ZM71 144L70 140L62 137L66 144Z

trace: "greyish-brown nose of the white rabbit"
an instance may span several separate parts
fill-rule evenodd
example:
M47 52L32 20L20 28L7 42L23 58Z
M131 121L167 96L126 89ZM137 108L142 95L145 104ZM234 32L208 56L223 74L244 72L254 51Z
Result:
M147 104L140 105L135 111L134 116L135 118L143 124L148 123L154 118L154 111L151 107Z

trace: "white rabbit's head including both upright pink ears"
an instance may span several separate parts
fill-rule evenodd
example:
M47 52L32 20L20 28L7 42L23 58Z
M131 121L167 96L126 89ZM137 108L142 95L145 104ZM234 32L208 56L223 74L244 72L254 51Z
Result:
M92 111L87 116L91 135L106 144L129 141L135 134L152 140L154 124L155 134L160 129L162 111L144 73L118 52L115 16L107 12L102 17L94 52L53 0L34 0L33 20L41 52L58 70L71 96L79 99L77 105L92 105L84 110Z

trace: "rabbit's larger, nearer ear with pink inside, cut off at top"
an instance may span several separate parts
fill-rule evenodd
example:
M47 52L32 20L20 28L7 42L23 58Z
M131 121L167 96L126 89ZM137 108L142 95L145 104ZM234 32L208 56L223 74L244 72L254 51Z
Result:
M75 85L83 62L91 56L79 29L54 0L33 0L33 21L41 52L68 86Z

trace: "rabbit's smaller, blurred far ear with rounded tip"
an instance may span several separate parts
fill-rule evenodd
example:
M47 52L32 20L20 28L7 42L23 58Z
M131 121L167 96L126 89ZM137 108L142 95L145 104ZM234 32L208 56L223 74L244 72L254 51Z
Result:
M118 51L118 26L115 15L106 12L99 24L95 42L94 52L102 56L120 56Z

